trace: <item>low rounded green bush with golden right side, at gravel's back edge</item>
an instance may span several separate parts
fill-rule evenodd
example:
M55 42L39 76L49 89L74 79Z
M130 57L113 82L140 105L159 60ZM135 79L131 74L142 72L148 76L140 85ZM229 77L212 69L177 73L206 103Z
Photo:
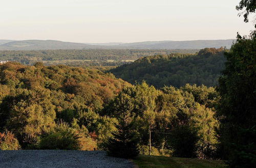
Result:
M96 142L86 137L78 129L66 123L57 125L49 133L42 135L38 143L39 149L94 150Z

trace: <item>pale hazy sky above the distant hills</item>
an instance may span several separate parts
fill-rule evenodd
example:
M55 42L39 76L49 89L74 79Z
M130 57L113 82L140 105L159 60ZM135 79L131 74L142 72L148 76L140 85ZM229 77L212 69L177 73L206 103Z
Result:
M80 43L234 39L239 0L0 0L0 39Z

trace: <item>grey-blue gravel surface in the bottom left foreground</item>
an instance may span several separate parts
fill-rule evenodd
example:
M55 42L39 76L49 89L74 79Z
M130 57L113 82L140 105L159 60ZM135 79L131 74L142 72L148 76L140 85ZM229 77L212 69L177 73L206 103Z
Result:
M105 151L19 150L1 151L0 167L134 167L126 159Z

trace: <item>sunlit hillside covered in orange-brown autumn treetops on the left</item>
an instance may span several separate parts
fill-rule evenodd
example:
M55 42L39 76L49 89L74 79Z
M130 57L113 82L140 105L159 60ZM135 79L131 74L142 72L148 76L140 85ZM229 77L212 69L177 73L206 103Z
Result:
M96 69L64 65L25 66L15 62L0 64L1 98L20 90L49 92L58 109L77 106L100 108L129 83ZM76 104L74 104L76 102ZM78 104L77 104L78 103ZM0 124L1 125L1 124Z

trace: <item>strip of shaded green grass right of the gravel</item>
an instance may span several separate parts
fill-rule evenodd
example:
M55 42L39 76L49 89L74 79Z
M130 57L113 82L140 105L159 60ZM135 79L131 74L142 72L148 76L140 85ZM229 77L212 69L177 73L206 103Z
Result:
M139 155L133 162L139 167L226 167L222 160L191 159L166 156Z

